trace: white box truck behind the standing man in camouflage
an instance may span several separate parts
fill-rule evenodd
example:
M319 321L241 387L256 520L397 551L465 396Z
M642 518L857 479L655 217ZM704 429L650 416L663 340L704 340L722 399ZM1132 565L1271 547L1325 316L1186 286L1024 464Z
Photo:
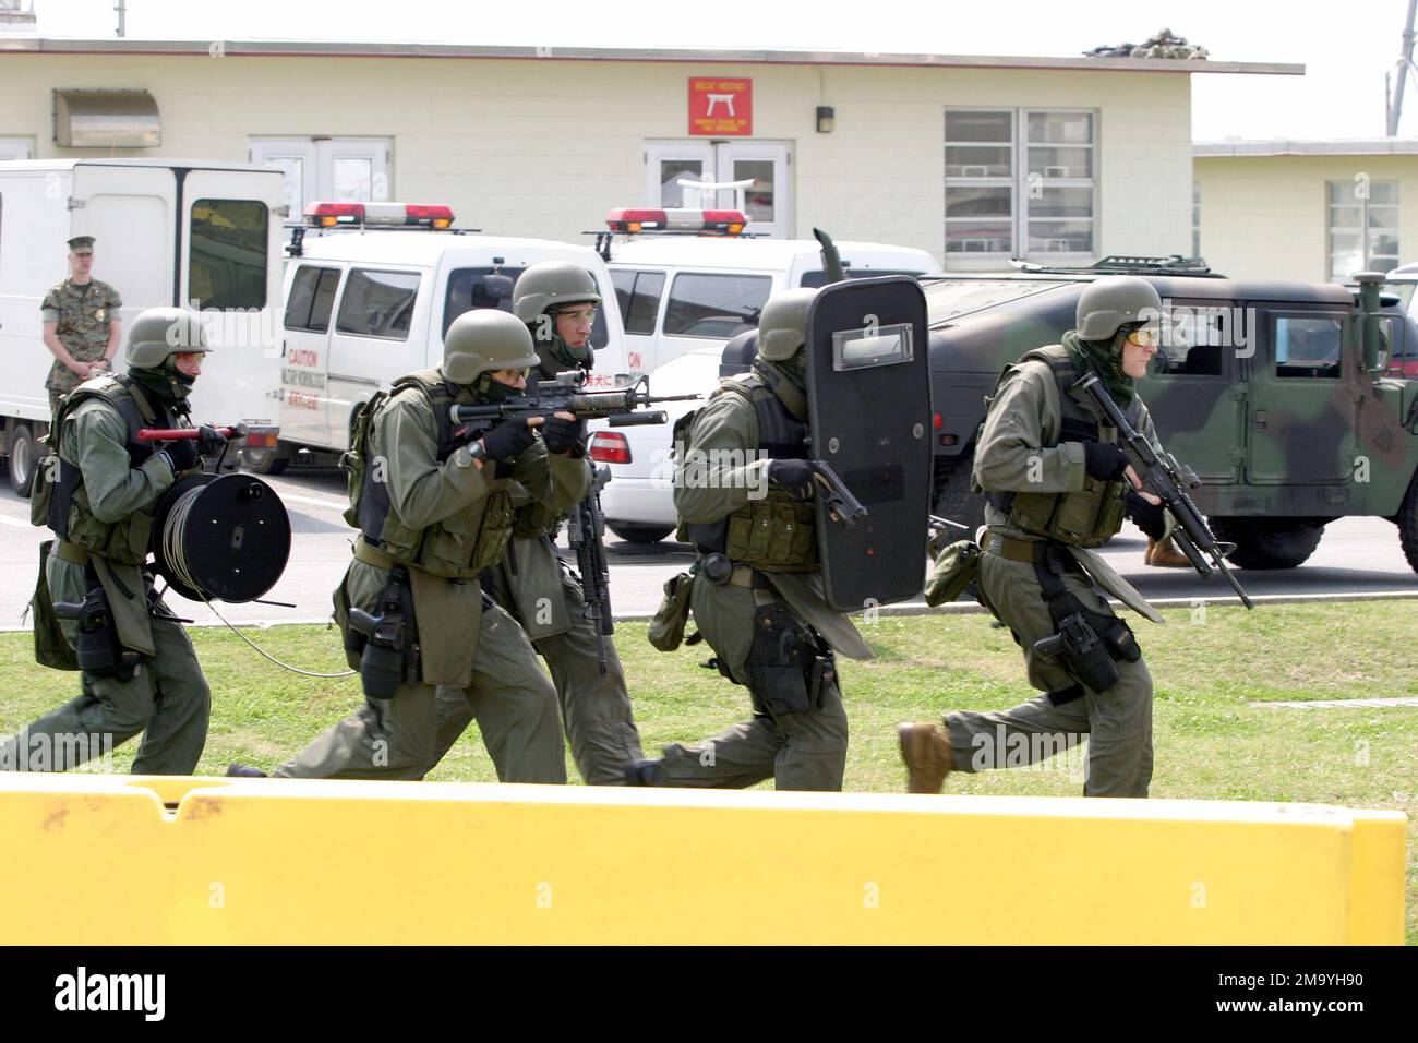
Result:
M50 421L44 382L54 356L40 302L68 277L75 236L95 238L94 278L123 298L125 331L157 305L203 312L214 352L193 389L196 420L271 416L259 373L275 355L282 197L279 170L245 163L0 162L0 454L21 495Z

